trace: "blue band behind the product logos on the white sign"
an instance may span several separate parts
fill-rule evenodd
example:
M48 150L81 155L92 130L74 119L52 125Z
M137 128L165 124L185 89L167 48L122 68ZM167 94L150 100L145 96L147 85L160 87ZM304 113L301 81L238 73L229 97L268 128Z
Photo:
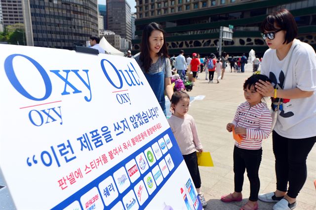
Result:
M66 207L68 207L70 204L72 204L75 201L78 201L80 203L80 197L82 195L84 195L85 193L87 193L89 190L91 190L92 188L96 187L98 188L98 185L100 182L102 182L103 180L105 180L107 177L109 177L110 175L113 176L113 173L115 171L117 171L119 168L124 167L125 168L125 164L128 163L129 161L131 161L132 159L135 159L135 157L139 154L141 154L142 152L144 153L144 151L151 147L154 143L158 142L159 139L163 138L164 135L168 134L169 138L171 140L172 143L172 147L170 149L168 149L168 151L162 155L161 158L159 158L159 160L156 161L156 163L149 167L149 169L146 170L146 172L144 172L143 174L140 175L140 177L138 177L133 183L130 183L130 186L127 187L122 193L119 193L118 197L111 202L111 204L109 206L106 206L104 204L104 201L102 199L103 205L105 206L105 209L111 209L112 207L114 207L119 201L122 201L122 198L130 191L134 189L134 186L140 181L143 180L145 175L148 174L149 171L151 171L153 168L155 168L159 162L164 159L166 157L166 155L170 154L172 157L172 161L174 164L174 168L171 169L171 171L169 171L168 175L163 178L163 181L157 186L157 188L155 189L155 191L149 195L149 198L141 205L141 209L144 209L150 202L151 200L155 197L155 195L159 192L159 190L163 187L163 185L166 183L166 181L172 176L172 174L174 173L174 171L179 167L179 165L182 163L183 160L183 156L180 152L180 149L178 147L178 144L173 136L173 133L171 131L171 128L168 128L167 130L165 130L164 132L162 132L161 134L159 134L155 139L151 140L149 143L147 143L146 145L144 145L142 148L140 148L139 150L137 150L136 152L134 152L133 154L131 154L130 156L128 156L127 158L125 158L123 161L121 161L120 163L118 163L115 167L109 169L108 171L106 171L105 173L103 173L101 176L99 176L98 178L96 178L95 180L93 180L92 182L90 182L89 184L87 184L86 186L84 186L83 188L81 188L79 191L77 191L75 194L73 194L72 196L70 196L69 198L67 198L66 200L64 200L63 202L61 202L60 204L58 204L57 206L55 206L54 208L52 208L52 210L61 210L64 209ZM161 148L160 148L161 149ZM127 169L126 169L127 170ZM128 172L127 172L128 173ZM118 186L116 186L118 189ZM100 189L98 188L98 191L100 193L100 195L102 195L102 192L100 192ZM135 192L135 194L137 194ZM102 196L100 196L102 197ZM123 203L123 202L122 202ZM82 209L85 209L82 207L82 204L80 203L80 206ZM140 206L140 205L139 205ZM199 205L201 207L201 205Z

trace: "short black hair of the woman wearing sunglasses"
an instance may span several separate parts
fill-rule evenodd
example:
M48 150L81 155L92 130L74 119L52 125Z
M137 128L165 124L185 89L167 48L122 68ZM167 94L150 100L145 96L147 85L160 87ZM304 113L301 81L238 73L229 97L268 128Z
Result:
M292 42L297 36L297 25L295 19L293 15L284 8L268 15L261 23L260 28L262 32L272 32L279 29L286 31L283 44Z

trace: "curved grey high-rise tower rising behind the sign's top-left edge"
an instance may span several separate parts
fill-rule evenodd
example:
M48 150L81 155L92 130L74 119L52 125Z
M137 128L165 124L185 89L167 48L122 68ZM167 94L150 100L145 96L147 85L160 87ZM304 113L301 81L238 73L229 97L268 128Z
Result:
M72 49L74 42L98 36L97 0L27 1L24 15L31 29L26 32L34 46Z

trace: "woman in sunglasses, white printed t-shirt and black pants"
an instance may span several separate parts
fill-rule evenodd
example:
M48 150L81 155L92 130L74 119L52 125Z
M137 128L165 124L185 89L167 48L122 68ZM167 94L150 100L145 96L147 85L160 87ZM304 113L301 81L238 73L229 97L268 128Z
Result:
M306 159L316 141L316 53L308 43L294 39L297 25L286 9L267 16L261 30L269 46L261 74L272 83L260 81L256 88L271 96L273 103L281 103L272 134L276 191L259 195L259 200L275 202L273 210L292 210L306 181Z

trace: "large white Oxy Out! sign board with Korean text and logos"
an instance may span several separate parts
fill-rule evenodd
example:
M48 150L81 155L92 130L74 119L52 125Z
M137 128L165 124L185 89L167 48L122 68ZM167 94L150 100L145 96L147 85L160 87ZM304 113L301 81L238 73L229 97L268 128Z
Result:
M0 48L1 209L202 209L134 59Z

